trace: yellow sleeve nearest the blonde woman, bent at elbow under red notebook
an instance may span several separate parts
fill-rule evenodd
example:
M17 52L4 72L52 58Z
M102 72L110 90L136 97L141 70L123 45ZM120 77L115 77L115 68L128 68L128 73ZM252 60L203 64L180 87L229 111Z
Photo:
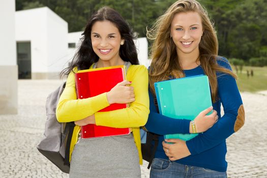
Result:
M107 112L96 112L96 125L114 128L140 127L145 125L149 115L149 76L141 65L132 65L127 72L127 80L132 81L135 101L130 107Z

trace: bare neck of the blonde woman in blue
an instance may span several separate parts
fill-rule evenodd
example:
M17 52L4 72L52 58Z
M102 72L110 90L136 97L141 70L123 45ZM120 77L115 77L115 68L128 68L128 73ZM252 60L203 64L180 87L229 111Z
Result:
M191 53L182 53L177 51L177 56L183 70L194 69L200 65L199 51Z

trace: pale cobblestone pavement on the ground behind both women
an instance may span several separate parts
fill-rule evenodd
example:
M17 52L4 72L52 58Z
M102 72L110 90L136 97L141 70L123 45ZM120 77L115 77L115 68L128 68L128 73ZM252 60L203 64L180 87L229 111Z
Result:
M0 115L0 177L68 177L36 149L43 134L46 96L58 80L19 80L18 114ZM228 177L267 177L267 95L242 93L245 126L227 139ZM142 178L149 177L147 163Z

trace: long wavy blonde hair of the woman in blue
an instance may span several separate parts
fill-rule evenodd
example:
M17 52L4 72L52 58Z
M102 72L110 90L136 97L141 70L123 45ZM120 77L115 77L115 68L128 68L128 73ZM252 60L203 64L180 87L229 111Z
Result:
M151 48L152 62L149 71L150 89L155 95L154 83L167 80L170 76L175 78L185 77L177 56L176 46L170 38L170 26L175 14L181 12L197 12L201 18L203 35L199 43L199 60L204 73L209 77L212 100L217 100L217 76L216 72L230 74L236 79L236 75L217 64L218 39L206 10L195 0L180 0L172 4L168 10L160 16L154 26L147 30L146 36L154 43Z

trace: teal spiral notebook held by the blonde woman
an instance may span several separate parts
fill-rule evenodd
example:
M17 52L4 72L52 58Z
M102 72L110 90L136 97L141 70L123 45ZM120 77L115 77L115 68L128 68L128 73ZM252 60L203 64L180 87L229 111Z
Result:
M212 106L209 78L206 75L155 82L154 86L162 115L194 120L202 110ZM170 134L164 135L164 138L190 140L195 136L197 134Z

